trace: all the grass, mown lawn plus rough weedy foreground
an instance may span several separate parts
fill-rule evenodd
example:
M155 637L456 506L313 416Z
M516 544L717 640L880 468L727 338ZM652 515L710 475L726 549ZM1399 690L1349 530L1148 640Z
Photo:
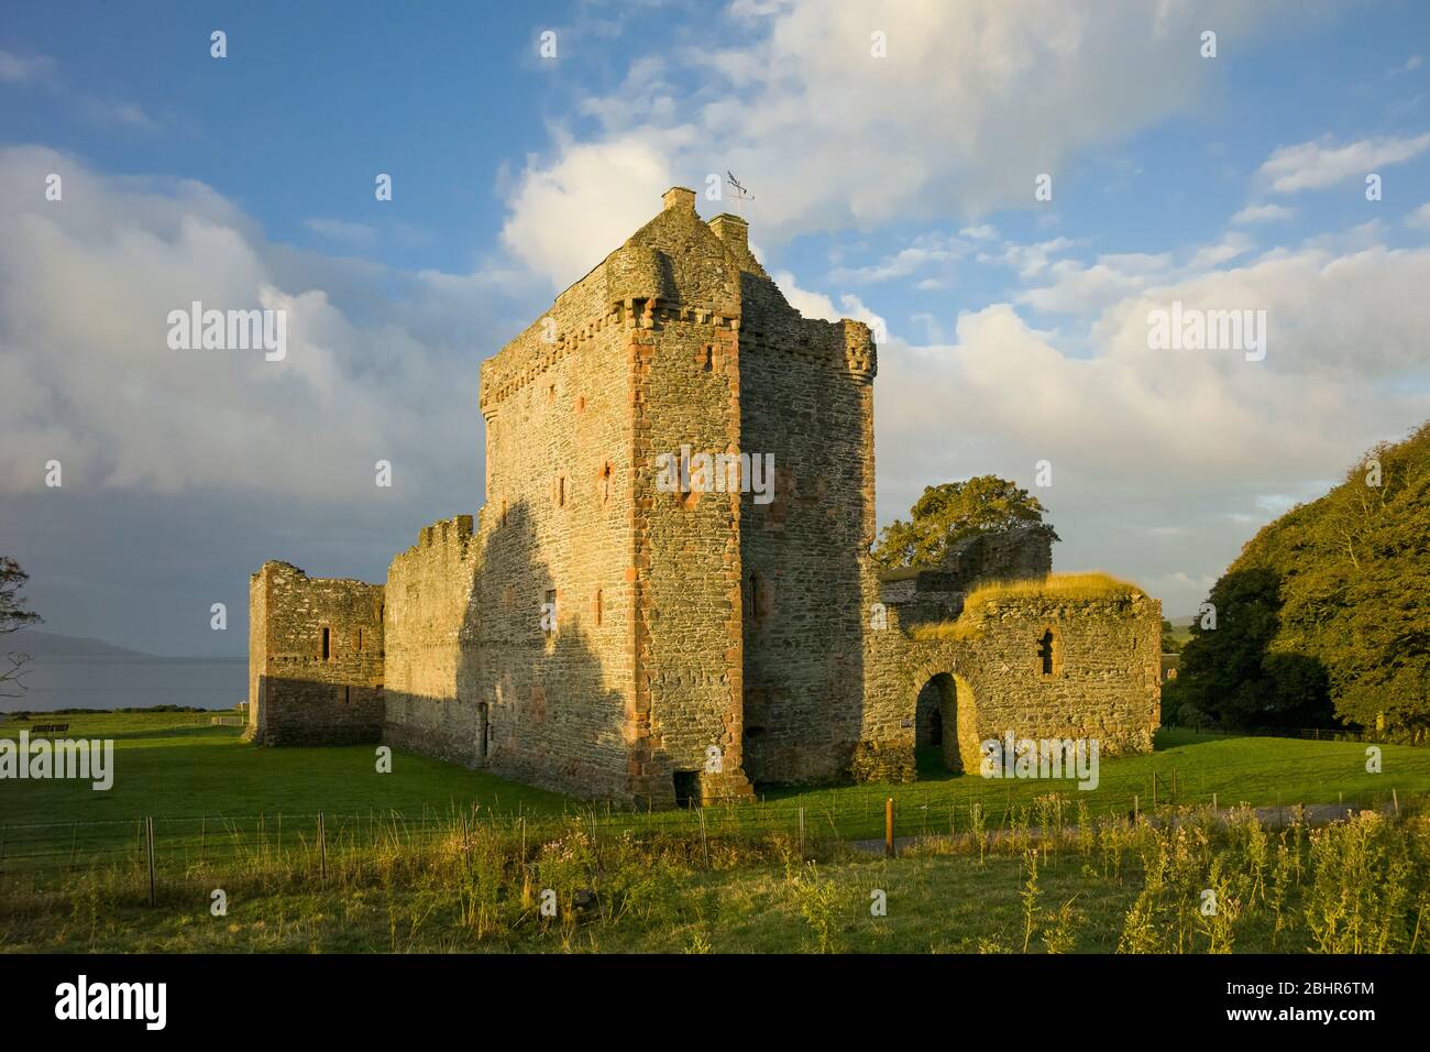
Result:
M3 949L1423 950L1430 922L1430 824L1413 817L1430 751L1410 747L1383 746L1373 774L1358 743L1170 730L1153 754L1104 760L1091 792L955 776L921 753L911 784L645 814L406 753L379 774L370 746L260 749L204 716L64 720L67 737L114 740L114 786L0 783ZM1125 820L1134 799L1153 809L1154 784L1158 817L1183 827ZM887 797L898 836L934 839L898 859L852 844L882 834ZM1290 826L1250 812L1228 826L1213 799L1280 804ZM1390 800L1400 822L1369 832L1307 830L1294 809ZM1207 886L1233 906L1226 925L1188 907ZM559 919L536 907L542 887ZM585 913L582 887L598 896Z

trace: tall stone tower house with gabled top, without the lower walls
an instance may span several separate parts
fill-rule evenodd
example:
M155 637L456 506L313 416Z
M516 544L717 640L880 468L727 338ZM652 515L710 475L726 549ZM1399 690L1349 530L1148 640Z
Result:
M865 326L799 318L745 222L702 222L684 187L483 364L490 767L655 804L838 773L872 374ZM662 461L699 454L772 458L745 481L768 500L719 485L739 472L662 490Z

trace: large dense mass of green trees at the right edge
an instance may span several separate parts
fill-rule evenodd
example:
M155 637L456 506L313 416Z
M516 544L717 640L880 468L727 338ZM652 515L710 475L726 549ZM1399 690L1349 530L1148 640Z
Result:
M1268 524L1211 588L1163 713L1430 736L1430 422ZM1187 711L1183 708L1187 707Z

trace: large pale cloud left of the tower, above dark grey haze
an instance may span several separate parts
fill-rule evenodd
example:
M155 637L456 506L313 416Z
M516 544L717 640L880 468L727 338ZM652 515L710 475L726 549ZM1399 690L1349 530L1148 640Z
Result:
M389 301L372 265L269 245L203 185L0 149L0 185L41 186L46 172L64 173L63 202L0 198L0 492L43 491L49 459L83 491L370 500L376 459L408 497L475 482L469 341L493 328L473 315L499 279L393 289L389 275ZM335 295L360 301L365 321ZM286 359L172 351L167 315L192 301L285 311ZM475 500L473 487L460 505Z

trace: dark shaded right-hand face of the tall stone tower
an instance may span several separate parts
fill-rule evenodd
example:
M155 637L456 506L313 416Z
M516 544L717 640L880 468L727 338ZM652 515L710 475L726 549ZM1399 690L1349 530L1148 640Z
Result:
M742 505L746 767L832 781L861 737L875 348L859 322L801 318L762 273L739 332L744 442L775 458L774 501Z

